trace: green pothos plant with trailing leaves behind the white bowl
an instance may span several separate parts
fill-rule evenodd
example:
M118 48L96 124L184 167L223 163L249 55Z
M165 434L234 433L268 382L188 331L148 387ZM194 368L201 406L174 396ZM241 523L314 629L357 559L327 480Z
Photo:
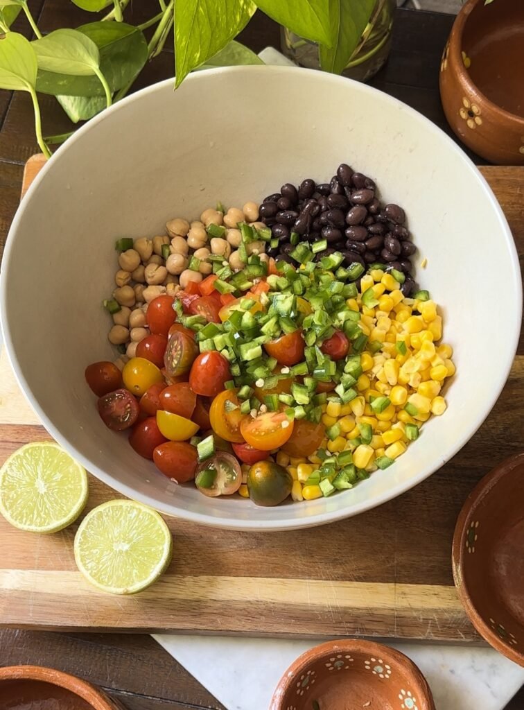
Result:
M138 26L124 22L130 0L72 1L89 13L106 13L43 36L27 0L0 0L0 89L31 95L36 138L47 157L48 146L70 133L43 137L38 93L56 97L73 122L90 119L129 92L170 36L175 87L196 69L262 63L234 41L257 8L317 43L322 69L340 74L381 0L158 0L158 11ZM32 41L11 31L20 13L31 26Z

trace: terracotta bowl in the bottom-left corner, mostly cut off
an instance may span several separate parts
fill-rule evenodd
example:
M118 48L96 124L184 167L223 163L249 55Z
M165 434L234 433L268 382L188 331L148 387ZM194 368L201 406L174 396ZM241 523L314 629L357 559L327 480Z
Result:
M1 707L12 710L124 710L124 706L80 678L41 666L0 668Z

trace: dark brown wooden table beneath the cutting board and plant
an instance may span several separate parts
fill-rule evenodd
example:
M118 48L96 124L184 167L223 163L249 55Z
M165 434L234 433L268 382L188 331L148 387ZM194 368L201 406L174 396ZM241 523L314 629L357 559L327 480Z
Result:
M43 32L60 26L74 27L92 19L69 0L29 0L29 5ZM142 3L136 0L130 21L138 23L148 18L152 7L152 0ZM371 81L373 86L425 114L448 133L438 92L438 66L452 21L450 15L399 10L391 57ZM28 35L21 18L14 29ZM278 26L257 13L241 40L256 52L268 45L278 48ZM136 88L172 75L173 52L167 47L146 67ZM41 97L40 105L45 135L71 129L54 99ZM18 206L23 165L36 152L31 100L27 94L13 96L0 91L0 256ZM478 156L470 155L477 164L484 163ZM147 635L1 631L0 665L19 663L48 665L77 674L106 689L129 710L222 708ZM508 710L524 710L524 688Z

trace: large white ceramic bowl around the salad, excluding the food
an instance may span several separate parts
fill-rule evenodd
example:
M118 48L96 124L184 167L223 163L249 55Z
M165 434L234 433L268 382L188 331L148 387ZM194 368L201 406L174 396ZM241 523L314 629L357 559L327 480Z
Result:
M341 162L371 175L408 214L427 258L417 277L442 305L457 376L447 412L394 466L351 491L258 508L175 486L99 419L87 364L114 359L100 303L118 236L163 234L217 200L261 200L284 182L329 180ZM239 530L320 525L378 506L448 461L508 376L520 329L515 246L466 155L427 119L364 84L292 67L235 67L125 99L60 148L14 219L1 278L16 376L49 432L109 486L168 515ZM503 304L501 303L503 293Z

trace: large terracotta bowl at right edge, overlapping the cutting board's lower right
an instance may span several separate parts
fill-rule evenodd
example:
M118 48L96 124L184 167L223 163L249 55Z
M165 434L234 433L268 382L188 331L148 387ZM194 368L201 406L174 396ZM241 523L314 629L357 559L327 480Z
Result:
M464 503L453 576L476 630L524 666L524 453L484 476Z

